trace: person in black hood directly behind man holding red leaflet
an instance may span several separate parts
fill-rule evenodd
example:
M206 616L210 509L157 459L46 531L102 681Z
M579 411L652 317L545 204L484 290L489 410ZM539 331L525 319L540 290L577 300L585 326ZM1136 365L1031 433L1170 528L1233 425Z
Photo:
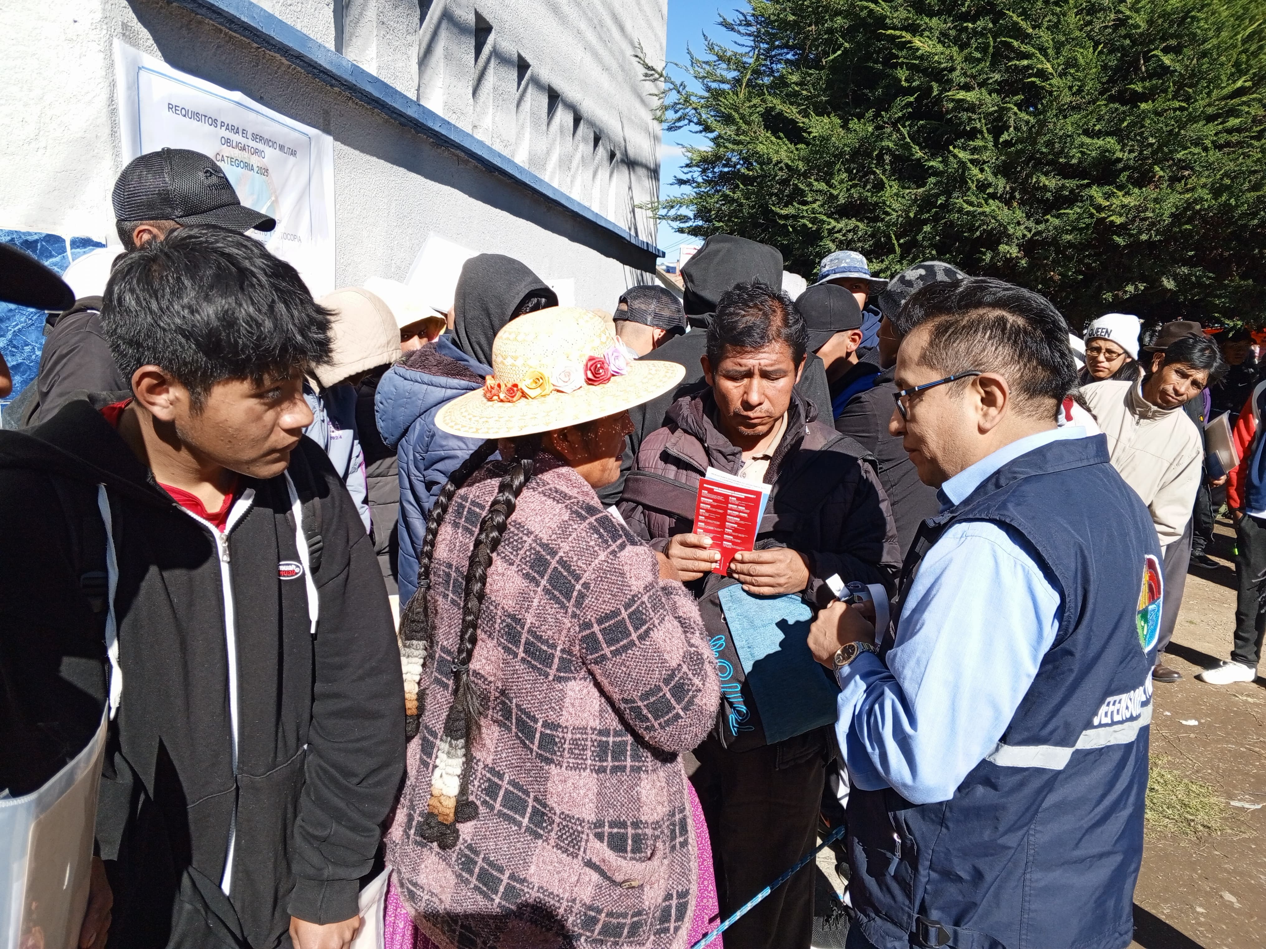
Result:
M704 369L700 359L708 349L708 323L717 311L717 301L736 283L753 280L775 291L781 290L782 253L768 244L758 244L733 234L713 234L681 268L681 278L686 285L682 304L690 330L642 358L685 366L686 376L676 388L629 410L633 434L629 435L629 445L620 462L619 480L598 492L603 504L610 505L620 500L624 478L633 467L633 458L637 457L643 439L656 429L663 428L668 421L667 414L672 404L687 390L703 382ZM827 371L815 353L809 353L805 358L804 371L795 391L813 402L820 418L830 418Z

